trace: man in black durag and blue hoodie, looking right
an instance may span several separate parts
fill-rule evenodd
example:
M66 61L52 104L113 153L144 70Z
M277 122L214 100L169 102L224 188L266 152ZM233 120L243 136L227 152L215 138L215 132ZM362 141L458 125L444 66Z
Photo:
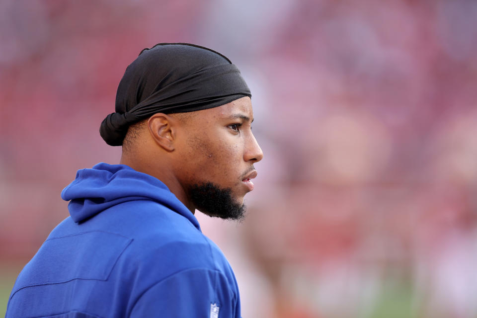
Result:
M82 169L70 217L18 276L6 317L240 317L237 282L195 209L240 219L262 151L249 89L225 56L145 49L101 123L121 164Z

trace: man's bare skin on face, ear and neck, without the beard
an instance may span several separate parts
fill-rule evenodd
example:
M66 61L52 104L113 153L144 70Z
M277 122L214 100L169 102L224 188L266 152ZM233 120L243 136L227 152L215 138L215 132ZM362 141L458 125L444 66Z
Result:
M243 205L250 189L242 180L263 158L251 131L252 120L249 97L190 113L157 113L135 126L120 163L164 182L192 213L199 208L220 216L200 207L193 197L202 192L194 189L213 185L228 192L233 204Z

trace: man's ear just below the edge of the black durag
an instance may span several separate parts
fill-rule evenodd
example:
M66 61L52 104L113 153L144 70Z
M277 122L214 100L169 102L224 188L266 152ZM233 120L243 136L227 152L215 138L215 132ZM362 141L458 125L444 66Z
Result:
M157 113L148 120L149 132L156 143L166 151L174 150L175 121L166 114Z

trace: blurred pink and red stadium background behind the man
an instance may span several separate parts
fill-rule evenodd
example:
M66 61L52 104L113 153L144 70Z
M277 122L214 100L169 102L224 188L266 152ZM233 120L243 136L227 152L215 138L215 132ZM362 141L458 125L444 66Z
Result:
M68 216L127 65L238 65L265 154L241 224L196 213L243 317L477 317L477 1L0 1L0 316Z

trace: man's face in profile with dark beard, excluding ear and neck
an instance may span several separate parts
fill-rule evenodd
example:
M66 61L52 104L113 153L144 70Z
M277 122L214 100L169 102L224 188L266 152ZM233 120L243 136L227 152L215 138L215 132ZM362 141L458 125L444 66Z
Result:
M263 158L252 120L249 97L194 112L184 120L176 175L201 212L224 219L243 216L243 197L253 189L249 179L256 176L253 164Z

